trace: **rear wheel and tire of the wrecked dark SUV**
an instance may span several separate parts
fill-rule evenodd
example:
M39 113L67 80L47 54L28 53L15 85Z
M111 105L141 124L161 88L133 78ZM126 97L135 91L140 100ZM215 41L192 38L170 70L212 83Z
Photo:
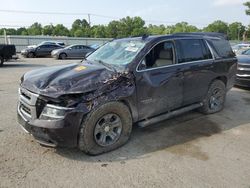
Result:
M210 84L207 96L203 101L200 112L204 114L214 114L224 108L226 100L226 86L221 80L215 80Z

